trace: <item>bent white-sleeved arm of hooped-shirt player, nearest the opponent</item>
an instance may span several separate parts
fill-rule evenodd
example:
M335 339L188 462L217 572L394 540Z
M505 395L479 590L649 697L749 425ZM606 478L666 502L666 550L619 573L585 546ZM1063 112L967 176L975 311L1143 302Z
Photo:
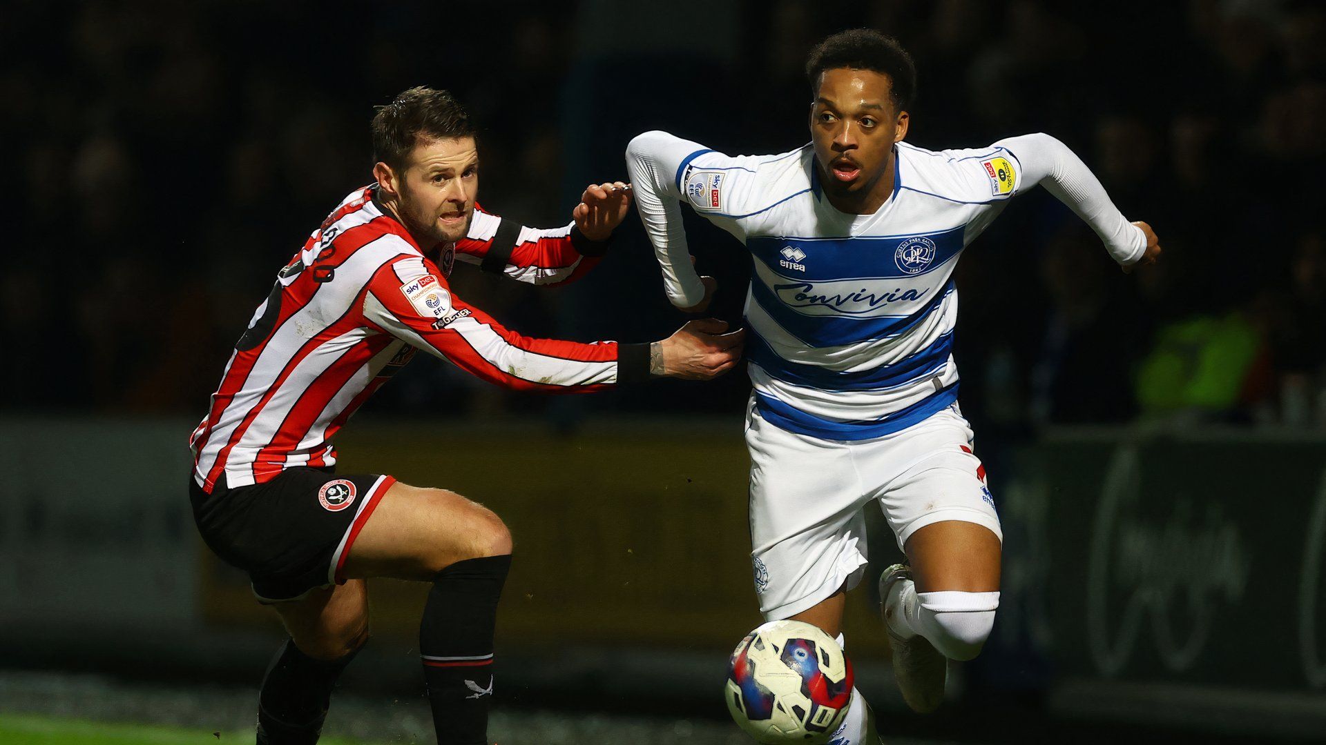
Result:
M672 305L703 312L713 294L713 280L701 281L691 261L682 227L678 172L688 158L708 148L664 131L647 131L626 147L626 168L635 186L635 205L663 269L663 289Z

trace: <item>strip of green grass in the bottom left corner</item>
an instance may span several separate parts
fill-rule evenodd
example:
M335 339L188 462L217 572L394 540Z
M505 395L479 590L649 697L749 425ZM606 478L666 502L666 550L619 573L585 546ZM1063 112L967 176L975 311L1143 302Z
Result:
M219 736L217 736L219 734ZM150 724L62 720L48 716L0 715L4 745L252 745L253 732L221 732ZM324 737L318 745L378 745L363 740ZM381 744L387 745L387 744Z

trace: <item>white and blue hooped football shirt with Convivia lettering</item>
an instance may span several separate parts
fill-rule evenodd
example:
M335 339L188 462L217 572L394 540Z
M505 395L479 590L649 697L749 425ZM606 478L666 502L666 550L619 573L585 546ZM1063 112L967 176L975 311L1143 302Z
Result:
M772 156L696 150L674 186L745 243L745 315L760 414L815 437L896 432L957 399L951 354L963 249L1017 194L1006 147L895 147L894 192L873 215L823 196L808 144Z

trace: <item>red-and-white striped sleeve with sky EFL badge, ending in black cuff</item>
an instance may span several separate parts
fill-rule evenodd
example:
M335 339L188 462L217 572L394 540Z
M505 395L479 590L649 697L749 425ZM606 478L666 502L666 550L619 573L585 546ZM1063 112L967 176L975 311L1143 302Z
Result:
M382 266L366 288L363 315L411 346L508 388L585 392L648 376L648 345L522 337L452 294L422 257Z

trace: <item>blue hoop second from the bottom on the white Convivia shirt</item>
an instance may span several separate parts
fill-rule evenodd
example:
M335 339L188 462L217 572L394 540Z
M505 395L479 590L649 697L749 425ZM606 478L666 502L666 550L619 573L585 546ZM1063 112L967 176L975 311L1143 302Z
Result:
M948 362L952 349L953 333L949 331L926 349L898 362L880 365L862 372L839 372L818 365L802 365L784 359L758 334L749 337L747 343L751 362L758 365L773 378L793 386L808 386L821 391L871 391L903 386L943 367Z

